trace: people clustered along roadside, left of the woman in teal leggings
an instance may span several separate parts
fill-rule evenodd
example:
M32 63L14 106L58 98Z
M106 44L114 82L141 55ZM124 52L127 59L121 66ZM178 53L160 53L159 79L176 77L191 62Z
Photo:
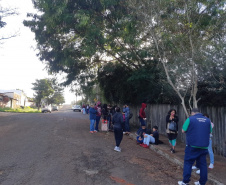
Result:
M150 143L158 144L159 134L157 126L154 126L152 130L146 130L146 107L147 105L142 103L138 116L140 128L136 133L138 135L137 141L140 143L140 146L148 148ZM114 150L121 152L120 143L124 134L130 134L129 120L133 116L133 114L130 112L128 104L125 104L121 111L120 107L118 106L111 106L107 104L103 104L102 106L101 102L98 101L95 105L90 105L89 114L90 133L99 132L99 123L102 117L104 121L106 120L108 122L108 130L114 131L116 142Z

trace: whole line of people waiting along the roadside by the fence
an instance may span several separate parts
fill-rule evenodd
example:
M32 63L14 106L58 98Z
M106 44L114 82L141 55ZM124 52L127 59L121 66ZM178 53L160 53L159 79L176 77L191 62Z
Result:
M144 148L149 148L149 144L159 144L158 127L153 126L152 130L148 130L146 124L145 109L147 105L142 103L139 110L140 128L137 130L137 142ZM98 126L101 116L108 120L109 129L113 129L116 146L115 151L121 152L120 143L123 134L130 133L129 119L130 109L126 104L121 112L120 107L101 106L100 102L91 105L90 114L90 133L98 132ZM171 109L166 116L166 133L168 136L170 151L175 153L176 139L178 135L178 116L176 110ZM96 126L94 128L94 125ZM113 127L112 127L113 126ZM182 133L186 133L186 148L184 157L183 181L179 181L179 185L186 185L190 181L192 169L198 169L200 179L195 182L196 185L204 185L207 182L207 162L206 155L210 156L209 168L214 167L214 155L212 150L212 128L214 124L210 121L207 114L202 114L197 108L191 110L191 116L187 118L182 127ZM193 164L196 162L196 165Z

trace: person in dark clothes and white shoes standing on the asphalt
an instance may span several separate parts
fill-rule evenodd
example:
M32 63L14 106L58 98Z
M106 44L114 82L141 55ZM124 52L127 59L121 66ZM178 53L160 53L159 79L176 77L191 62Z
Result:
M114 125L114 135L115 135L115 142L116 146L114 148L115 151L121 152L120 143L123 138L123 116L120 112L120 108L115 108L116 113L114 114L112 118L112 124Z

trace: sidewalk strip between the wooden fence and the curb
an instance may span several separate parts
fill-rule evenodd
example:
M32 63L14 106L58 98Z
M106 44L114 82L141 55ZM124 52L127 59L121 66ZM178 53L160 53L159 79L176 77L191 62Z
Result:
M131 133L130 137L136 140L135 134ZM150 149L183 168L185 144L177 141L176 153L172 154L168 138L160 134L159 139L163 141L163 144L150 145ZM207 156L207 164L209 165L209 156ZM193 171L192 176L198 177L199 175ZM208 181L214 185L226 185L226 158L214 155L214 169L208 169Z

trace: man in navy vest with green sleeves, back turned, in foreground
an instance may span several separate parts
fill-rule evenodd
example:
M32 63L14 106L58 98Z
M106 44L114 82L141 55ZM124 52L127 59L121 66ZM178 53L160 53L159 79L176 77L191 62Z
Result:
M183 181L179 185L186 185L190 181L192 165L196 161L200 168L200 179L196 185L205 185L207 181L206 155L208 154L209 136L212 132L210 119L193 108L191 116L186 119L182 133L186 133L186 148L184 156Z

